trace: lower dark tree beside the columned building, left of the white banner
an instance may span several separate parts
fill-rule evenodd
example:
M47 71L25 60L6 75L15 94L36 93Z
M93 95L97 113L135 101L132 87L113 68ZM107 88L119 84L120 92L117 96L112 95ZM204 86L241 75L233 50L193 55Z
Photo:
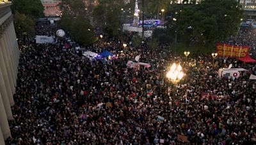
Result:
M22 34L28 36L35 35L35 21L33 18L24 14L15 13L13 16L13 23L18 38L20 38Z

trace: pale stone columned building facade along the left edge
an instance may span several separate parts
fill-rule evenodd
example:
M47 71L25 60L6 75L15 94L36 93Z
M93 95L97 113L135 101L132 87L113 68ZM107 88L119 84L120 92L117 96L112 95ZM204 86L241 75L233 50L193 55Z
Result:
M12 2L0 0L0 144L11 137L8 120L13 120L11 107L17 86L19 46L13 25Z

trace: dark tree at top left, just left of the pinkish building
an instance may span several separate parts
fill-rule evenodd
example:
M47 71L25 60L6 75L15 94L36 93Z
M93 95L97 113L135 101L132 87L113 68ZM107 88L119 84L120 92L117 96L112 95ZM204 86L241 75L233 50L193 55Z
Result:
M13 0L12 11L23 13L33 18L44 16L44 7L40 0Z

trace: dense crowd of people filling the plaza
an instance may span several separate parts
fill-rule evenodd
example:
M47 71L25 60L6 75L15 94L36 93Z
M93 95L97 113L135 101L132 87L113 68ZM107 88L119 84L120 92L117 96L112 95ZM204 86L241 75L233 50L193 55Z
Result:
M56 32L47 27L38 32ZM20 41L12 137L6 144L255 143L255 81L246 73L218 77L218 68L230 63L249 71L254 64L212 64L211 56L199 54L186 62L164 46L124 48L118 40L100 39L86 49L118 55L102 64L72 49L61 51L61 43ZM127 68L136 55L150 69ZM166 79L172 62L180 62L186 74L177 85Z

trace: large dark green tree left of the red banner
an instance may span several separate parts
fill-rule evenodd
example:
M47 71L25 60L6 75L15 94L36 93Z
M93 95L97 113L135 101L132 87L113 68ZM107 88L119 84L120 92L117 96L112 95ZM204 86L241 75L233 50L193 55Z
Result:
M187 45L212 45L235 35L243 11L235 0L205 0L200 4L172 4L168 15L170 35ZM173 21L176 18L177 21Z

